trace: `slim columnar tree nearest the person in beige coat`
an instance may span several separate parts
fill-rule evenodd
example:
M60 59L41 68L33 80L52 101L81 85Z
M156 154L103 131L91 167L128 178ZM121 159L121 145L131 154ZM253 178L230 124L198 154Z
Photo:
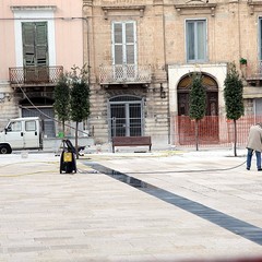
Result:
M237 120L243 116L243 84L236 70L235 63L228 64L224 86L226 117L227 119L234 120L234 155L237 156Z

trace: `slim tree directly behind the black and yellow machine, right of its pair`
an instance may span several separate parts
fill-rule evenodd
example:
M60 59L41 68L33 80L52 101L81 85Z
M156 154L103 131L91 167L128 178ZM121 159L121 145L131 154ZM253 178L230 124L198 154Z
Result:
M85 120L90 116L90 86L86 78L86 71L84 68L81 70L76 67L72 68L71 74L72 87L71 87L71 119L75 122L75 150L76 158L79 158L79 123ZM78 70L80 73L78 74Z

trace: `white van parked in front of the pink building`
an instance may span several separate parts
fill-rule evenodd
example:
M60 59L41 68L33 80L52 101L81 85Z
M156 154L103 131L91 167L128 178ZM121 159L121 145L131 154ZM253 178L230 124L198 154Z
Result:
M38 117L11 119L0 132L0 154L13 150L43 150L43 129Z

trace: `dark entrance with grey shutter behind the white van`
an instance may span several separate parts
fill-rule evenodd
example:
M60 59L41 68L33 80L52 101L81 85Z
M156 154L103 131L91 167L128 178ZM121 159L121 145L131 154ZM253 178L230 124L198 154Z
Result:
M53 99L47 97L31 97L22 99L20 107L22 117L39 117L44 120L44 135L47 138L56 136Z

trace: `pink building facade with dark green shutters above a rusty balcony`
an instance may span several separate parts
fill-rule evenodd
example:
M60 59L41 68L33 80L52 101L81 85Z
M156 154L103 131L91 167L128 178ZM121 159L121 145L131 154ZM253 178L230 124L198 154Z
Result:
M0 3L0 127L39 116L53 138L53 88L61 73L83 66L82 1L3 0Z

